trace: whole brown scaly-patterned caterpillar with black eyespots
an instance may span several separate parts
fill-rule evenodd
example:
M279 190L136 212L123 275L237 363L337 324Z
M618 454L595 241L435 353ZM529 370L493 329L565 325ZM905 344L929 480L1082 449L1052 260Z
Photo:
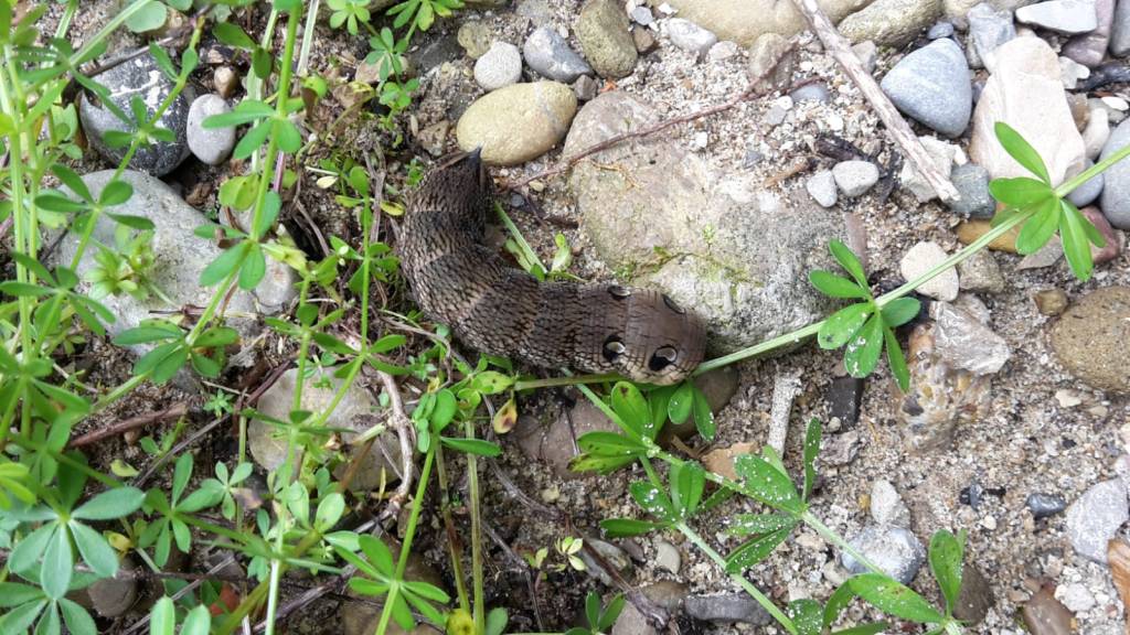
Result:
M666 295L539 282L483 245L492 183L478 151L441 163L411 197L401 270L420 308L466 345L534 366L672 384L703 359L702 322Z

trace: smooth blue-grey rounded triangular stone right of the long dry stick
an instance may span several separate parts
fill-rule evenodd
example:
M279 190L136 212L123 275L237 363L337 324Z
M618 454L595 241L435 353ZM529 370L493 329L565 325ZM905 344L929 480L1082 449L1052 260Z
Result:
M903 114L947 137L970 123L968 64L953 40L937 40L902 59L879 86Z

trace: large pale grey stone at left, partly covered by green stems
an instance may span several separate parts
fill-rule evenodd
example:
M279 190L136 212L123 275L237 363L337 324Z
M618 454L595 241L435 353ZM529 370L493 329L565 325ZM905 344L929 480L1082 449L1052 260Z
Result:
M104 169L82 176L90 193L98 198L103 188L113 177L114 171ZM121 206L113 208L114 214L140 216L148 218L155 225L150 243L155 264L151 280L162 294L167 296L166 304L157 295L149 294L145 299L131 295L111 295L101 299L118 320L106 324L111 336L132 329L142 320L155 316L156 312L176 311L182 306L207 306L215 289L200 285L200 273L223 250L214 242L201 238L192 230L206 223L202 214L185 203L176 192L157 179L127 169L121 180L133 188L133 195ZM105 215L98 218L92 237L106 245L115 244L114 234L118 224ZM79 236L71 232L59 242L59 249L52 259L53 263L70 263L78 251ZM78 275L84 277L96 266L97 249L88 247L78 264ZM227 303L228 325L236 328L244 336L253 332L255 320L241 318L254 313L277 313L295 296L293 287L295 276L288 267L275 267L268 259L267 277L253 292L237 290ZM80 282L79 293L89 293L89 285ZM149 345L130 347L137 354L148 351Z

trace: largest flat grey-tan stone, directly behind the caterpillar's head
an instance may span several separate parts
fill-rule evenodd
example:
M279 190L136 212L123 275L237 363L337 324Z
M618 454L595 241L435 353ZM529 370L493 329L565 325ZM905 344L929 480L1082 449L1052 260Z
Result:
M564 151L658 120L652 106L605 93L577 114ZM807 324L831 307L806 284L807 272L829 263L819 245L846 229L841 215L827 214L803 192L783 200L753 174L713 173L683 143L663 138L599 153L573 168L570 190L596 254L612 269L641 271L636 282L694 306L719 351ZM707 226L709 241L697 229ZM654 263L657 249L679 255L646 264Z

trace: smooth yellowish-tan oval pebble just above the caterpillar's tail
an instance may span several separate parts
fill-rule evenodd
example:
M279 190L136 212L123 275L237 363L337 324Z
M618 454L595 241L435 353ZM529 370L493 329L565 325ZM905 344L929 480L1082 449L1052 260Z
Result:
M488 164L516 165L560 141L574 114L576 95L564 84L512 84L476 99L459 119L455 137L464 151L481 148Z

